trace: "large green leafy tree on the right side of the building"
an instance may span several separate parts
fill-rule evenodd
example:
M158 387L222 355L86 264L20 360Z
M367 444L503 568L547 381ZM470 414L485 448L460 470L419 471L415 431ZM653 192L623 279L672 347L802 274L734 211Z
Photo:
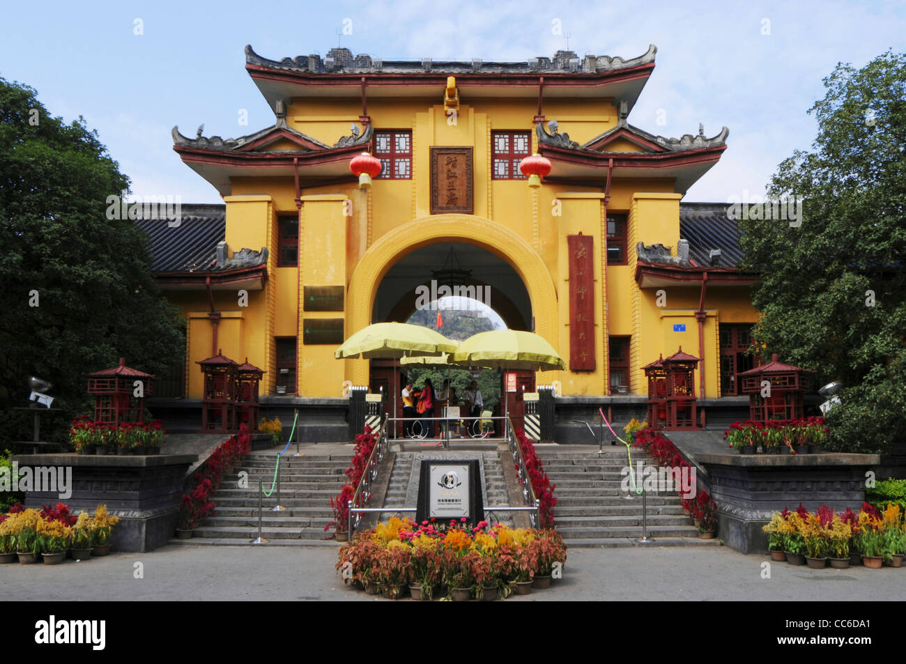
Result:
M834 448L882 451L906 429L906 54L838 64L824 87L812 151L768 192L804 198L801 226L741 222L745 267L761 273L754 338L819 385L843 380Z

